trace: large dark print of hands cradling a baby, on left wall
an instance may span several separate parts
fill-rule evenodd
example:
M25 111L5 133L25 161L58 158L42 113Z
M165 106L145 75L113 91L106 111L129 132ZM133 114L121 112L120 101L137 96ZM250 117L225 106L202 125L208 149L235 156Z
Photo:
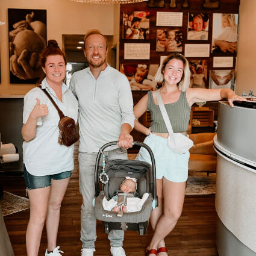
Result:
M46 10L8 9L11 84L34 84L42 75L39 56L46 46Z

